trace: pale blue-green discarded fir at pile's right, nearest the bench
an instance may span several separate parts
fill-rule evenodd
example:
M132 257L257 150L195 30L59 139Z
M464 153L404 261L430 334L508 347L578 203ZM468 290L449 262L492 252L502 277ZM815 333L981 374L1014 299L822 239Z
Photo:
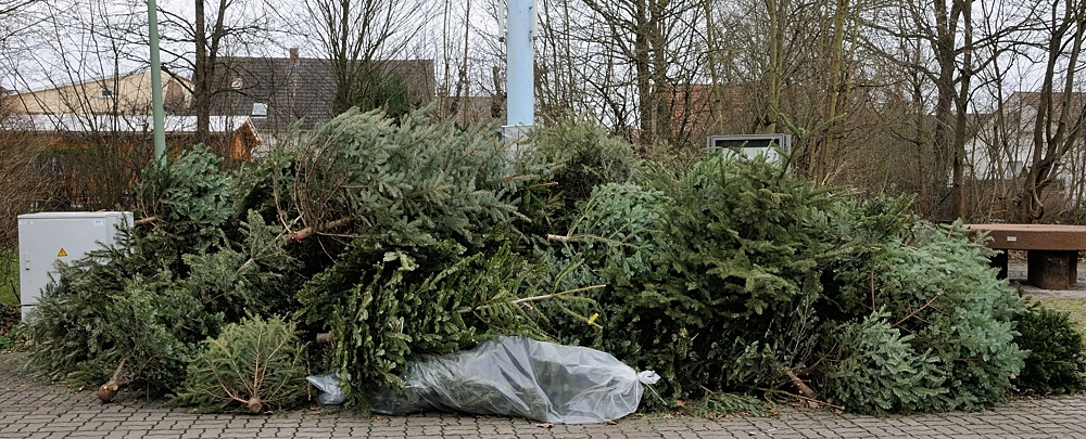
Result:
M1006 397L1025 352L1014 344L1023 304L998 281L987 249L961 224L919 223L871 251L860 267L837 271L826 299L853 315L884 309L893 326L930 352L946 393L932 410L975 410Z

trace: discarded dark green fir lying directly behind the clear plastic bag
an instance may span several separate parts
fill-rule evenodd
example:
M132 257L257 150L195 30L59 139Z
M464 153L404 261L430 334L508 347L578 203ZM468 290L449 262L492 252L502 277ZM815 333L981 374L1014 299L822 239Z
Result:
M545 339L531 300L578 300L551 284L548 266L508 247L463 251L451 240L399 247L358 240L306 283L300 318L331 333L327 367L352 377L343 389L351 403L366 404L378 388L402 388L416 354L469 349L500 335ZM521 299L528 306L515 302Z

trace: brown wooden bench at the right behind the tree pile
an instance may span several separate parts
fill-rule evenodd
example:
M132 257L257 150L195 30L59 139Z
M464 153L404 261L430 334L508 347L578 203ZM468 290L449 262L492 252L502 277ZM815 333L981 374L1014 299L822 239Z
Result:
M1000 250L993 267L1007 276L1007 250L1026 250L1028 283L1045 289L1068 289L1078 277L1078 251L1086 250L1086 225L965 224L987 232L987 246Z

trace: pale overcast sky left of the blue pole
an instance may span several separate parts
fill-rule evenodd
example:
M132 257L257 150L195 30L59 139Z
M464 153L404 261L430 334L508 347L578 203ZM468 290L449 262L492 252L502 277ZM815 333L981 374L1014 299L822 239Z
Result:
M0 86L25 91L147 68L148 14L144 1L79 0L73 1L74 4L68 1L48 1L9 21L14 36L4 39L0 48ZM407 1L424 2L430 12L412 18L418 21L414 24L415 28L425 30L414 39L408 53L399 57L439 60L439 68L442 56L462 57L465 23L469 24L469 57L482 56L481 52L477 53L479 48L493 47L496 42L488 41L496 40L494 34L497 28L493 12L488 9L493 9L498 0L472 0L470 10L466 2L446 4L439 0L401 0ZM274 5L268 7L270 3ZM194 5L191 0L157 0L157 4L163 11L159 14L159 30L164 36L162 61L177 67L181 64L177 63L178 54L191 60L191 43L169 42L168 38L178 33L164 23L169 20L171 13L191 21ZM307 28L315 24L315 18L306 11L304 0L232 0L231 4L235 8L228 14L228 23L250 23L251 17L256 16L266 18L273 30L254 38L255 43L230 41L223 54L287 56L288 48L299 47L302 56L324 56L318 39ZM209 1L206 4L209 9L216 7L217 2ZM470 17L466 21L468 12ZM450 24L444 29L443 16L447 16ZM103 26L105 22L112 23L113 28ZM459 50L443 49L445 29L447 39Z

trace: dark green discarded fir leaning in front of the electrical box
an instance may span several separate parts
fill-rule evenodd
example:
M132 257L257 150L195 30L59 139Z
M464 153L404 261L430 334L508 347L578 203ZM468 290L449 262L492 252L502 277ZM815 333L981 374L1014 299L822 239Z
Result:
M60 279L28 314L35 348L27 362L35 376L98 387L124 362L123 382L151 393L180 382L199 337L219 322L187 292L171 288L168 271L127 271L134 261L121 251L96 250L58 266Z

